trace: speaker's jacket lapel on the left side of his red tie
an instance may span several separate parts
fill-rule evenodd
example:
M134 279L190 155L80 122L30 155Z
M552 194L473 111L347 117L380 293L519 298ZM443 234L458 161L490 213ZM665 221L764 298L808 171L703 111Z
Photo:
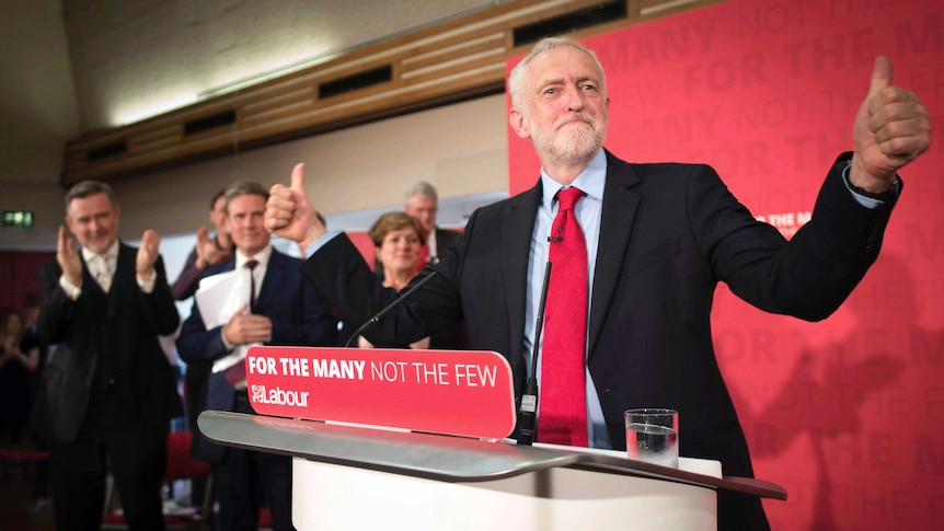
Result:
M534 218L541 201L541 181L528 192L510 201L502 219L502 275L505 280L508 304L508 325L513 332L511 348L518 351L525 345L525 303L527 300L528 261ZM511 359L518 359L514 357Z

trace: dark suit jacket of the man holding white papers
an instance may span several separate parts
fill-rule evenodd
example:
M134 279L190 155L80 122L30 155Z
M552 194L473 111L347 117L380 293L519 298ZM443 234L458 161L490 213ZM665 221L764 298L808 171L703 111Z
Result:
M299 269L302 261L273 249L260 287L255 312L272 320L272 340L266 345L322 346L333 345L337 321L329 312L327 301L306 282ZM230 272L235 257L208 267L204 276ZM184 321L177 338L181 359L191 362L212 362L229 354L222 342L221 326L207 330L200 310L194 302L191 316ZM233 411L234 391L223 372L210 374L204 409ZM226 447L214 445L197 434L194 455L210 463L219 462Z

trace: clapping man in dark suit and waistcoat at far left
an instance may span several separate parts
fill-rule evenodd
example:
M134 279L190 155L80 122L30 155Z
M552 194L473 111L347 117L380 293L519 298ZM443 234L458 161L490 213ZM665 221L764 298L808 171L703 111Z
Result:
M160 236L118 241L120 209L104 183L66 194L56 261L41 270L42 339L58 344L37 397L57 529L97 529L111 473L131 529L163 529L161 481L170 419L182 413L158 342L180 324ZM106 463L107 461L107 463Z

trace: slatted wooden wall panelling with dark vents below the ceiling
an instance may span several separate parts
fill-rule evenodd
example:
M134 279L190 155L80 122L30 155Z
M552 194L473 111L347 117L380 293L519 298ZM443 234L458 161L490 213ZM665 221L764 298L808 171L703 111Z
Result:
M586 37L719 0L621 0L626 16ZM114 180L502 92L514 32L613 2L519 0L352 50L324 64L68 143L62 185ZM333 95L331 83L377 70L376 84ZM356 78L355 78L356 79ZM188 128L206 128L186 134Z

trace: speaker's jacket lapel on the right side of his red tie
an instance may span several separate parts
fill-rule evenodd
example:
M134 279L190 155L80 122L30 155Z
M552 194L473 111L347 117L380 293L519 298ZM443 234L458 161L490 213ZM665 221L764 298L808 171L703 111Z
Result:
M631 189L638 177L625 162L607 151L607 183L600 219L600 243L597 269L594 272L594 297L590 308L589 356L603 327L615 288L622 275L626 246L638 211L641 196Z

